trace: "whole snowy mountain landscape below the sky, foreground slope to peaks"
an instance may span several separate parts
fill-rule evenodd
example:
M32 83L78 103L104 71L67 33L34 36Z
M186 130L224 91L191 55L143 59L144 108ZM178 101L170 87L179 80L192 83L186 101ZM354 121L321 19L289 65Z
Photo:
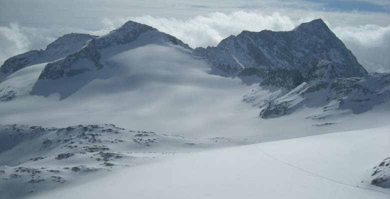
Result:
M388 199L389 99L321 19L66 34L0 67L0 198Z

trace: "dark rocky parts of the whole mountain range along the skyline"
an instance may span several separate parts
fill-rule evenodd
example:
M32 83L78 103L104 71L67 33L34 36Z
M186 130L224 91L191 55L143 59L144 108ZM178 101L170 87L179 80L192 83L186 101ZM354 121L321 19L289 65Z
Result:
M247 77L255 77L255 81L248 84L259 83L261 89L278 90L268 98L257 96L256 91L244 96L244 101L261 109L262 118L290 114L302 105L322 107L321 113L311 117L315 119L325 117L329 110L350 109L361 113L390 96L389 74L367 74L321 19L302 23L291 31L244 30L223 39L215 47L195 49L153 27L128 21L99 37L77 33L63 35L45 50L32 50L7 59L0 72L3 84L8 85L4 82L10 74L48 62L27 93L48 96L64 89L55 82L65 77L89 74L80 76L84 83L72 82L77 87L75 90L94 78L109 78L106 72L99 73L103 68L115 67L106 57L152 43L177 46L193 58L205 60L210 65L210 74L241 78L244 83L248 83L244 80ZM0 87L1 101L18 95L23 94L12 89L12 85Z

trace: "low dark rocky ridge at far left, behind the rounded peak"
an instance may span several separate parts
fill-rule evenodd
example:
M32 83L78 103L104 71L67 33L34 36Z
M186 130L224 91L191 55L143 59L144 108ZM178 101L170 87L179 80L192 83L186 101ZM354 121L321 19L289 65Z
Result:
M86 41L97 36L80 33L65 34L47 45L45 50L31 50L7 59L0 72L9 75L24 67L51 62L78 51Z

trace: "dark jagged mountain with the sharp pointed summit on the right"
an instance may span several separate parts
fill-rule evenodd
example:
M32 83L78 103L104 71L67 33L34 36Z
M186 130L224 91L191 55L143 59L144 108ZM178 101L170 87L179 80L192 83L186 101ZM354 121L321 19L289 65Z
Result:
M367 71L322 19L302 23L291 31L242 31L215 47L194 50L208 60L213 73L236 76L244 68L296 69L307 75L318 60L332 61L345 76L362 76Z

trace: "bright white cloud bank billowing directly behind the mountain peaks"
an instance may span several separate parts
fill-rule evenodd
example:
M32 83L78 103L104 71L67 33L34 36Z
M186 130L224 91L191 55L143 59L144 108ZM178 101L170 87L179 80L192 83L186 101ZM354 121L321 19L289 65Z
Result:
M0 63L6 58L31 49L44 48L56 37L69 32L81 32L101 35L107 33L127 20L148 24L160 31L171 34L191 47L214 46L229 36L239 34L242 30L260 31L263 29L285 31L291 30L301 22L318 18L318 14L289 16L273 12L235 11L229 14L213 12L186 19L155 17L150 15L103 18L97 31L72 27L36 28L10 23L0 26ZM359 62L369 71L390 71L387 53L390 51L390 25L363 24L345 25L334 18L323 18L329 28L355 54Z

